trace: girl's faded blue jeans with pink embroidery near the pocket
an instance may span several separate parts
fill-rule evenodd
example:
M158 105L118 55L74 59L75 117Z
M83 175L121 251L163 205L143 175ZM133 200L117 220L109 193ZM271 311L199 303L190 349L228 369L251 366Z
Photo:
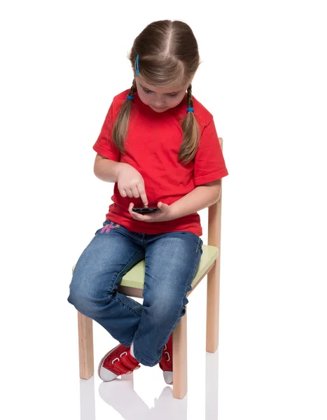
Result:
M74 269L68 302L129 347L142 365L160 362L163 346L186 312L203 241L191 232L130 232L109 220L95 232ZM118 283L146 262L143 305L118 293Z

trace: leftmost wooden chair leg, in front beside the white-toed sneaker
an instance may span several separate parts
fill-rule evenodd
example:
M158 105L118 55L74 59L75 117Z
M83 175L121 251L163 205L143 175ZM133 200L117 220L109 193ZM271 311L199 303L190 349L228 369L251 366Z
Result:
M95 372L93 356L93 328L92 319L78 314L78 351L81 379L90 379Z

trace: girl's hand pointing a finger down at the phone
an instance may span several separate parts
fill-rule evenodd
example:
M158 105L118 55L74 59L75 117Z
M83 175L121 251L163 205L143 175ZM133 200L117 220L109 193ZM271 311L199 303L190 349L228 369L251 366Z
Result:
M144 179L137 169L124 163L118 172L117 186L122 197L141 197L144 207L148 207Z

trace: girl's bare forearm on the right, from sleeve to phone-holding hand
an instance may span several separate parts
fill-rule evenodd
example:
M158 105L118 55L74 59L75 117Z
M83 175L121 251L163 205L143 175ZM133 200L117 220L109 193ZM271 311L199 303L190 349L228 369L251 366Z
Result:
M197 186L190 193L170 204L172 219L188 216L206 207L210 207L219 200L221 194L221 180Z

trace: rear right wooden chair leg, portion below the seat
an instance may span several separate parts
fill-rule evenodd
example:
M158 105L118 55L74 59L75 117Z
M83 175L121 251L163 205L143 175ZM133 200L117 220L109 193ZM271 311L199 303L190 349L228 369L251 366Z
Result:
M219 286L220 258L216 259L214 267L208 273L207 283L207 345L209 353L218 349L219 335Z

